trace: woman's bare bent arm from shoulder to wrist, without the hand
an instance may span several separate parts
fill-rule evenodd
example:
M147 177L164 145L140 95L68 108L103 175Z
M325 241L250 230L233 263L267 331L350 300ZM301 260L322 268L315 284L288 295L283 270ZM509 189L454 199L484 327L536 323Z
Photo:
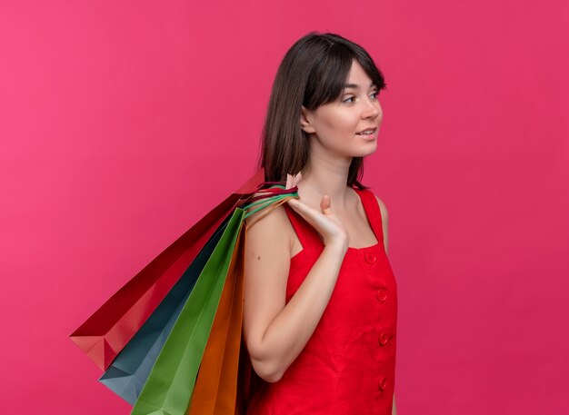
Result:
M280 380L304 349L334 291L347 251L347 238L325 243L304 282L285 304L292 247L287 222L280 206L247 229L245 237L244 338L253 368L267 381Z

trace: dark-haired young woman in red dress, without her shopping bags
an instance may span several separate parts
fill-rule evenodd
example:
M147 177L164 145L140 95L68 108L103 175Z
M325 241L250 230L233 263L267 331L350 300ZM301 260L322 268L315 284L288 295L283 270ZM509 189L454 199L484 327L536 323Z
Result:
M261 166L300 199L247 228L244 339L263 380L247 415L395 413L387 210L359 182L384 88L369 54L339 35L305 35L280 64Z

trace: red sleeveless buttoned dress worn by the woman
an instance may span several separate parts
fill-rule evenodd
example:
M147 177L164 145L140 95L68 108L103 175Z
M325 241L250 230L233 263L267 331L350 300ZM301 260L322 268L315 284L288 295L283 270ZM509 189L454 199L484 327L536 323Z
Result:
M377 243L348 248L334 292L303 351L281 380L262 381L247 415L391 415L395 380L397 292L384 251L381 212L359 195ZM291 258L286 302L324 250L314 228L286 203L303 250Z

